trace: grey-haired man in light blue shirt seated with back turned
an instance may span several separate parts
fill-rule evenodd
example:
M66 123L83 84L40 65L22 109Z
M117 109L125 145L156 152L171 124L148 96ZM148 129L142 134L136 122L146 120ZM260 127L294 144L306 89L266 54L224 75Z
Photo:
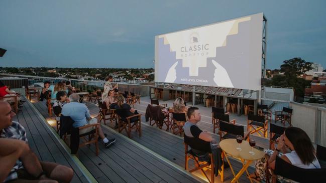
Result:
M97 118L91 118L89 114L89 110L87 106L83 103L79 103L79 95L73 93L69 96L70 103L65 104L62 107L61 114L64 116L70 116L72 120L75 122L72 124L73 127L78 128L81 126L85 126L88 124L95 124L97 121L100 121ZM99 116L97 116L99 117ZM93 127L84 128L79 131L79 134L84 134L94 129ZM102 139L105 147L109 147L110 145L116 142L116 139L107 139L104 135L101 126L98 127L98 136L99 140Z

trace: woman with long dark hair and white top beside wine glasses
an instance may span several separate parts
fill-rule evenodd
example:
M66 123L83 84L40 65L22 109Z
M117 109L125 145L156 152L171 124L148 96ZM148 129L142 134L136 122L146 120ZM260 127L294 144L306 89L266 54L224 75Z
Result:
M274 151L265 149L265 153L270 155L268 159L270 168L275 168L276 156L280 156L286 162L300 168L320 168L311 140L302 129L290 126L285 129L283 135L277 141L278 144ZM250 177L258 181L265 180L266 162L265 157L257 160L256 171ZM282 182L284 178L278 176L277 179Z

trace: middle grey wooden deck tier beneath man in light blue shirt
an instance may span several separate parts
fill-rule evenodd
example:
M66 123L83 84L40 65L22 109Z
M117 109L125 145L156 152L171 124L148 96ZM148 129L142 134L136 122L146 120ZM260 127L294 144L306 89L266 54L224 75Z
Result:
M49 117L43 102L34 103L34 105L46 120L54 120L53 116ZM95 106L89 103L87 105ZM93 116L96 114L93 112L96 110L95 107L91 109ZM93 145L82 147L78 151L80 161L98 182L201 181L125 135L108 127L103 127L103 131L107 133L109 138L116 138L116 144L108 149L104 148L103 144L99 144L98 156L95 156Z

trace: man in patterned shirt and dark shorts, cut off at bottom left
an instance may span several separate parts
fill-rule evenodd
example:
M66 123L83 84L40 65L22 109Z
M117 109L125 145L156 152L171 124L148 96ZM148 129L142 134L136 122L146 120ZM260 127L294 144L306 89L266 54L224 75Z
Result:
M26 142L23 151L5 182L70 182L73 170L53 162L40 161L27 144L26 131L13 121L16 115L8 102L0 101L0 138L11 138ZM4 163L4 162L1 162Z

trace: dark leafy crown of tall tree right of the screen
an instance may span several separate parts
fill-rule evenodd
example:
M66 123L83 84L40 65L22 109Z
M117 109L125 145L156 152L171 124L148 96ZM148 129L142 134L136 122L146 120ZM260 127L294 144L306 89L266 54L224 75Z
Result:
M284 64L281 65L281 72L284 72L285 76L297 77L305 72L312 69L311 62L306 62L300 57L293 58L290 60L283 61Z

